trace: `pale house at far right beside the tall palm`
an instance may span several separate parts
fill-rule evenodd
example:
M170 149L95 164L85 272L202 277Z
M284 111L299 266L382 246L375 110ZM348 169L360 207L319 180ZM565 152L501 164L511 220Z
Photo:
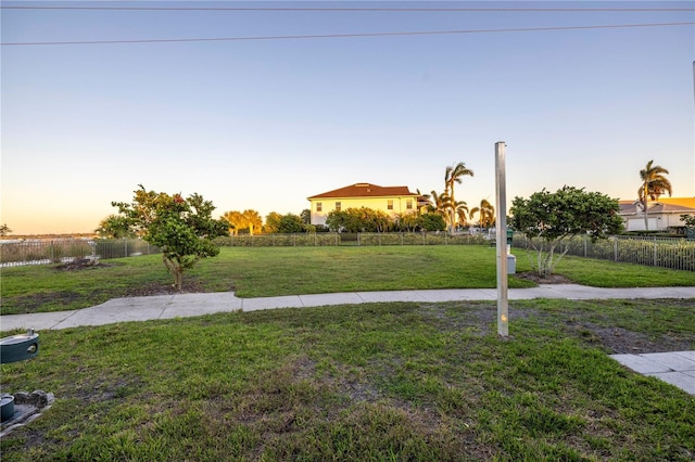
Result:
M644 231L644 210L640 201L620 201L620 216L627 231ZM681 215L695 216L695 197L659 197L647 202L647 220L650 231L681 228Z

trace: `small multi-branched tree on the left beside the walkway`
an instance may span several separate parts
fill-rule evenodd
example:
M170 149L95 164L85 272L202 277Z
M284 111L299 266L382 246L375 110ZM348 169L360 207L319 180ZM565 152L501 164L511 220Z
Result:
M118 207L129 229L139 231L144 241L160 247L177 291L181 290L184 270L201 258L217 255L219 247L213 240L229 233L229 223L213 219L215 207L198 193L185 200L180 194L146 191L140 184L132 203L112 202L111 205Z

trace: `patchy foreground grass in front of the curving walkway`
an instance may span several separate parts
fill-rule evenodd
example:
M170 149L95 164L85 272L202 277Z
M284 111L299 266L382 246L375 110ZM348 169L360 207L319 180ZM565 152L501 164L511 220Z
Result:
M694 300L364 304L41 332L3 461L693 460L695 399L607 352L695 346ZM609 329L607 329L609 328ZM616 344L616 342L620 342Z

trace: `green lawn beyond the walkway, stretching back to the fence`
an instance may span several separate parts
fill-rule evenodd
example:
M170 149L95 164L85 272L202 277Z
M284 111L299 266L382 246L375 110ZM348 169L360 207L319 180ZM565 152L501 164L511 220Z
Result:
M531 269L515 249L517 271ZM0 313L45 312L147 295L170 284L161 256L104 260L79 271L53 266L2 270ZM565 257L557 272L594 286L695 285L695 273ZM185 275L191 290L262 297L351 291L495 287L495 252L488 246L224 247ZM509 278L510 287L532 282Z

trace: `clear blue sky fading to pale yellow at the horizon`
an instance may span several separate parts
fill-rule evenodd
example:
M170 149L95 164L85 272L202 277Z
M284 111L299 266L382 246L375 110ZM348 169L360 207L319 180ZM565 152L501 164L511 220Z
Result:
M494 204L498 141L507 202L565 184L633 200L652 159L695 196L692 1L1 7L14 234L91 232L138 184L299 215L358 182L441 193L458 162L472 208Z

